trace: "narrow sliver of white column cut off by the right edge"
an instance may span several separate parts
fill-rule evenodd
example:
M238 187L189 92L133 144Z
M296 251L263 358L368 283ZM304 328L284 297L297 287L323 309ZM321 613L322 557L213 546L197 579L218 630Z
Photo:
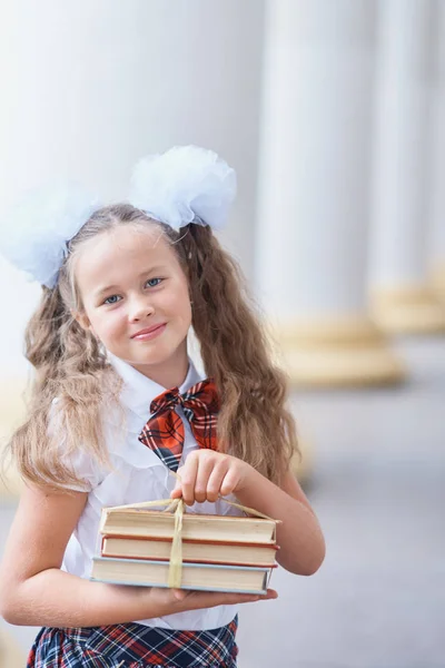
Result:
M436 0L431 124L429 262L433 285L445 299L445 2Z

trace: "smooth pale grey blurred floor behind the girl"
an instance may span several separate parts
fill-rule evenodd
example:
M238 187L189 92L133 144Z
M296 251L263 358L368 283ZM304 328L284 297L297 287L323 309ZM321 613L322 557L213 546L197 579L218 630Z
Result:
M293 397L328 553L243 609L240 668L445 667L445 340L397 346L404 387ZM3 537L13 503L0 510ZM8 630L24 652L34 629Z

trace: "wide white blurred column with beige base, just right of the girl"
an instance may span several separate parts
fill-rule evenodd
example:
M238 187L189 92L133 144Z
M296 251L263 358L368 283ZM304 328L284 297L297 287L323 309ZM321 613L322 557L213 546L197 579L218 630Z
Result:
M374 13L267 6L257 275L296 384L403 376L366 317Z

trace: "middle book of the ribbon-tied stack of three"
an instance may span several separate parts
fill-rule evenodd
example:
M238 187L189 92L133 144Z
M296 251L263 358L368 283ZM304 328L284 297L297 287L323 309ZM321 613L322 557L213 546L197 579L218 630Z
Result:
M277 546L257 543L208 542L182 540L182 561L228 563L234 566L268 566L275 563ZM164 538L132 538L103 536L102 557L169 560L171 540Z

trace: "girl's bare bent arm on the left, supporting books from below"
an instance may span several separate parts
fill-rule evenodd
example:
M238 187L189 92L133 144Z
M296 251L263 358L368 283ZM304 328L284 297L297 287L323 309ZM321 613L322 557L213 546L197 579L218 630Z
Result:
M85 627L125 623L174 612L249 602L259 597L91 582L60 570L87 493L26 488L0 577L0 613L14 625ZM267 597L275 598L270 591Z

